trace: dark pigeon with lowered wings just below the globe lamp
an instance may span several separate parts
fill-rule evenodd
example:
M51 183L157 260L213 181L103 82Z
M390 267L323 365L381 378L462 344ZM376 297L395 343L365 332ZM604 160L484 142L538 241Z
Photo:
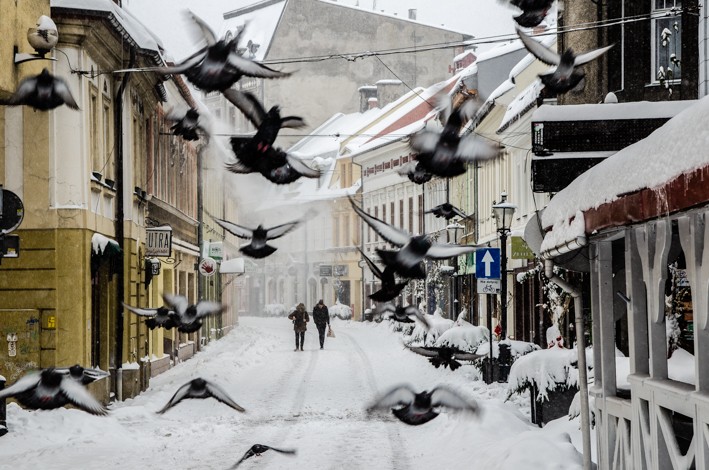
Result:
M40 111L48 111L63 104L71 109L79 109L79 105L69 91L69 85L62 78L49 73L47 69L42 69L39 75L23 79L15 93L0 104L27 105Z

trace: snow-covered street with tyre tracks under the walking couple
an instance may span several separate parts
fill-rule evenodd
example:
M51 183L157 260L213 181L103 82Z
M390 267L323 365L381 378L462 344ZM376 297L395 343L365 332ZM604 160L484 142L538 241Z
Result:
M108 417L9 404L0 468L226 469L255 443L295 448L297 455L267 452L239 468L580 468L564 434L578 439L574 422L543 430L529 424L527 397L504 403L504 384L475 380L472 366L435 369L403 349L386 324L333 327L337 337L326 339L325 350L311 326L305 351L294 352L290 321L241 318L239 328L152 379L142 395L112 405ZM246 413L213 399L155 413L199 376L222 385ZM365 413L378 392L399 383L421 390L449 384L478 400L484 413L443 413L416 427Z

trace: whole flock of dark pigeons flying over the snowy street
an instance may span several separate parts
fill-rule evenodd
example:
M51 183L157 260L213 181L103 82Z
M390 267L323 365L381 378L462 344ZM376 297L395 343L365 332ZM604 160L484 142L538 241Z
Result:
M522 11L514 19L520 26L526 28L541 23L553 4L553 0L500 1ZM203 20L192 13L189 15L204 46L180 64L158 67L153 71L160 74L184 74L187 80L201 90L223 93L226 99L256 127L257 131L254 135L231 138L235 161L227 164L226 169L238 174L259 173L275 184L288 184L300 177L319 178L319 170L309 167L302 160L274 146L281 128L303 127L305 121L297 116L281 116L278 106L273 106L266 111L252 94L231 88L243 76L273 79L287 77L290 74L273 70L244 56L244 49L239 47L241 32L228 40L217 39ZM53 22L50 23L40 22L37 25L37 40L48 41L56 37L56 26ZM581 55L575 55L571 49L567 49L559 55L519 29L517 34L530 53L545 64L554 66L549 73L540 75L544 86L553 93L565 93L578 85L584 77L579 66L594 60L612 47L596 49ZM51 44L51 41L48 44ZM56 40L48 46L48 49L51 49L54 44ZM0 104L27 105L40 111L51 110L64 104L72 109L79 109L67 83L62 78L52 75L47 69L42 70L39 75L22 80L15 93ZM398 172L417 184L423 184L433 176L448 178L460 175L465 172L470 163L497 158L501 151L498 144L484 141L472 133L460 135L461 126L476 112L477 104L474 101L467 101L458 109L452 110L450 100L448 99L447 102L444 100L440 107L443 129L423 130L414 135L411 139L411 147L417 153L417 158L400 168ZM184 114L173 113L168 114L167 117L175 123L172 126L175 135L187 140L197 140L200 136L208 139L208 126L199 110L192 108ZM389 301L400 294L409 280L425 278L426 259L451 258L473 252L477 248L439 244L435 243L429 235L412 235L368 214L358 207L354 200L350 199L350 202L357 215L394 247L376 250L383 268L378 267L372 259L361 253L364 261L381 281L381 289L370 296L372 300L385 303L380 313L395 321L413 322L416 319L428 325L426 316L418 308L394 306ZM465 216L450 203L441 204L428 212L447 220L455 216ZM270 228L261 225L249 228L226 220L215 220L237 237L251 240L249 244L242 246L240 251L254 258L271 255L276 248L268 245L268 241L282 237L302 222L296 220ZM185 297L179 295L165 294L163 300L165 305L157 309L125 304L124 307L136 315L147 317L145 323L150 329L176 328L184 333L197 331L206 316L217 314L224 308L216 302L209 301L199 301L191 305ZM436 367L442 365L452 370L460 366L457 359L471 360L470 357L465 356L465 353L452 348L411 347L410 349L430 357ZM85 385L107 375L106 372L98 369L83 368L79 365L69 368L48 368L28 373L10 387L0 391L0 400L14 397L30 409L54 409L71 404L94 415L105 415L108 413L107 409L91 396ZM219 385L196 378L182 385L158 413L165 413L185 399L209 397L236 411L245 411ZM435 418L442 407L471 413L479 411L476 403L444 386L434 387L430 392L417 392L406 385L394 387L384 393L370 404L367 410L391 410L402 422L420 425ZM295 453L293 449L277 449L255 444L234 467L251 456L260 455L267 450L284 454Z

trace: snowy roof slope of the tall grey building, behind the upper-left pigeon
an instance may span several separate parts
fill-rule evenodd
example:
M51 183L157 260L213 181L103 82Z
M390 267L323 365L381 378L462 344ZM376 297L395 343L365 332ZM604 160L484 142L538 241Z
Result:
M263 0L226 12L221 34L222 36L227 33L235 35L238 28L246 25L239 47L246 47L249 41L258 44L253 58L263 60L268 53L285 6L285 0Z

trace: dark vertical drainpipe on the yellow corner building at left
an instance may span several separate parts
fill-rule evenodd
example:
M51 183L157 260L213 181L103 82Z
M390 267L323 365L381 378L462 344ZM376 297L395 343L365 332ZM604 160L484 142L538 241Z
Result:
M135 48L130 49L130 62L128 68L135 67ZM123 93L128 86L128 80L130 79L130 73L125 73L121 84L116 92L116 105L113 108L113 127L116 139L116 220L115 220L115 232L116 241L118 246L121 248L121 253L125 255L125 232L123 230L123 223L125 219L124 214L124 191L123 191ZM121 260L118 263L118 271L116 272L116 277L118 280L118 285L116 286L116 399L118 401L123 401L123 305L122 302L125 301L125 260Z

